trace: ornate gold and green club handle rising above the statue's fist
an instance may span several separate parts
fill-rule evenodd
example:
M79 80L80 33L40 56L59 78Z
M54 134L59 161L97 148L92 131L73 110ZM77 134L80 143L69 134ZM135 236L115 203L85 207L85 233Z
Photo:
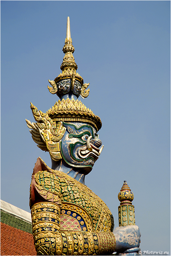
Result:
M135 225L135 210L132 205L133 193L126 181L118 194L120 205L118 207L119 227Z

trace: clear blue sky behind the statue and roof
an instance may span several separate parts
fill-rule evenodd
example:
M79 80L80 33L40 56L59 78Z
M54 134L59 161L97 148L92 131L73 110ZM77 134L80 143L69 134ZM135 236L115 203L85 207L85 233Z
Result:
M1 1L1 199L29 211L37 157L30 101L46 112L58 100L66 21L82 102L100 116L104 150L85 183L113 213L126 180L135 199L142 251L170 253L170 1Z

